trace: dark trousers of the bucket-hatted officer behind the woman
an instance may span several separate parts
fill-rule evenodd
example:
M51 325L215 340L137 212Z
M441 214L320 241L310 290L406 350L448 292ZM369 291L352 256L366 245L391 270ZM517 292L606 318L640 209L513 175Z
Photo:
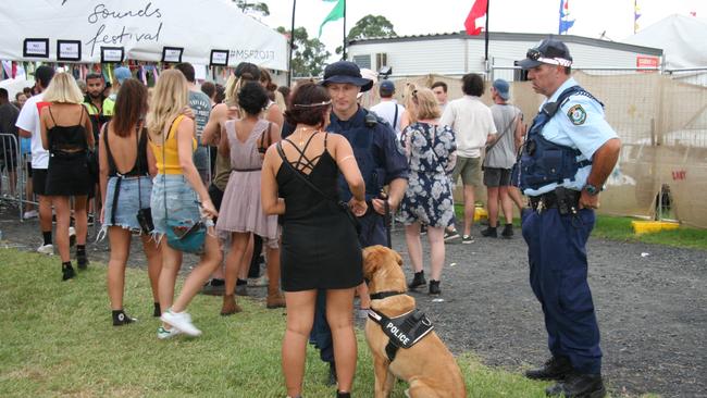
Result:
M361 247L373 245L386 246L387 238L383 216L369 212L367 215L359 217L361 223L361 235L359 241ZM319 356L324 362L334 362L334 345L332 341L332 329L326 322L326 290L317 293L317 307L314 308L314 324L309 339L317 348Z

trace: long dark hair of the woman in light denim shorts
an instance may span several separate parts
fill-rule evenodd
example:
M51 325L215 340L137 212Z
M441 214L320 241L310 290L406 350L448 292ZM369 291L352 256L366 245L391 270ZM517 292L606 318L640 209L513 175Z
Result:
M147 112L147 88L135 78L128 78L121 85L115 99L115 111L111 125L119 137L127 137L131 130Z

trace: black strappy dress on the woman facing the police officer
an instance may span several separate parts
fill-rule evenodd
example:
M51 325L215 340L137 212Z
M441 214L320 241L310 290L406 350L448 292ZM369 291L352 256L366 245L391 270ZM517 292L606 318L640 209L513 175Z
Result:
M330 198L338 198L339 170L326 150L327 137L324 138L322 154L313 159L305 156L310 137L299 159L289 162L296 170L282 164L277 171L280 196L285 199L280 254L285 291L343 289L363 282L362 253L356 228L336 203L322 198L293 175L302 173ZM288 139L284 140L299 150ZM287 162L286 159L283 161Z

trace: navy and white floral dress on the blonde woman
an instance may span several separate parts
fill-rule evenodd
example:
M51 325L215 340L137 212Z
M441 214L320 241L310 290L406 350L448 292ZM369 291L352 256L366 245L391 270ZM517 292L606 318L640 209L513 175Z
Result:
M454 199L447 172L454 169L455 133L448 126L417 122L402 132L400 144L409 164L408 189L400 204L402 223L450 225Z

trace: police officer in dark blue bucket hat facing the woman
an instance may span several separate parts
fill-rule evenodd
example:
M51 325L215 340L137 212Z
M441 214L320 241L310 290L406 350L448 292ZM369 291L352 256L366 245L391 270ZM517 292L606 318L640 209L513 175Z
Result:
M331 123L327 132L345 136L354 148L354 156L365 182L365 200L369 212L360 217L361 247L387 245L384 215L387 210L395 212L408 186L408 161L398 145L390 125L383 119L361 108L357 101L359 92L371 89L373 82L361 77L358 65L349 61L338 61L326 66L324 79L320 83L328 89L332 97ZM386 198L381 196L388 186ZM339 178L339 196L344 201L351 198L346 181ZM386 203L387 202L387 203ZM361 308L369 307L370 298L363 284L359 289ZM317 298L317 312L312 327L312 338L320 349L320 357L330 363L330 383L335 383L334 350L332 332L325 319L325 295L320 291Z

